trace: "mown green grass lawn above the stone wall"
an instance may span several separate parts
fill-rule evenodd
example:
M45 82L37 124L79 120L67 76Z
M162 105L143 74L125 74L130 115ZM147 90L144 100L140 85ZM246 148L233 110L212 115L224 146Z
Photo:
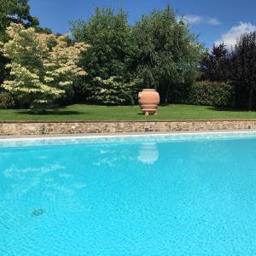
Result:
M168 105L160 107L157 115L143 116L138 106L105 107L70 105L33 114L29 110L0 110L0 120L181 120L181 119L256 119L256 112L206 106Z

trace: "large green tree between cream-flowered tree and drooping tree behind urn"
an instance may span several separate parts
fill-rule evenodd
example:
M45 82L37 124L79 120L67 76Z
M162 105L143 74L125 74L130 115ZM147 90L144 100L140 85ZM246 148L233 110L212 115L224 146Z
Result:
M90 44L90 48L82 54L80 61L81 67L88 72L88 75L80 83L79 94L93 102L108 101L104 96L101 97L102 100L96 96L96 78L106 80L105 85L113 81L112 89L116 88L114 80L117 79L125 84L131 79L130 66L134 50L127 15L122 9L115 14L111 8L96 8L95 14L89 20L72 22L72 32L75 41ZM110 79L113 77L115 79ZM125 87L122 90L125 92ZM127 90L130 91L129 86ZM106 97L108 93L109 91Z

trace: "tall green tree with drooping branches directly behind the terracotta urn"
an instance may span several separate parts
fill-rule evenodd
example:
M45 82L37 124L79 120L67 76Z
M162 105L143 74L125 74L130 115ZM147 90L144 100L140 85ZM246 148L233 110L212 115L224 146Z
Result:
M137 45L137 75L144 87L159 90L161 102L169 102L175 84L192 83L198 76L203 47L169 5L143 15L132 38Z

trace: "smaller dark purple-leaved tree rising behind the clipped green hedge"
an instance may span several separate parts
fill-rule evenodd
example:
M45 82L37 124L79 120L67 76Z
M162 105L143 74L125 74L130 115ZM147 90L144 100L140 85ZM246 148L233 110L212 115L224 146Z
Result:
M203 54L200 63L201 80L225 82L230 78L230 54L223 44L213 45Z

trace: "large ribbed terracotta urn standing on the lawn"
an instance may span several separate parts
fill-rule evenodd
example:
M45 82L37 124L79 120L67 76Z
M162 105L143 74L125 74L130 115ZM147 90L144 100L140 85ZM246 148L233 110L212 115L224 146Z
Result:
M143 114L157 114L156 110L160 102L159 93L154 89L143 89L138 94L138 102Z

